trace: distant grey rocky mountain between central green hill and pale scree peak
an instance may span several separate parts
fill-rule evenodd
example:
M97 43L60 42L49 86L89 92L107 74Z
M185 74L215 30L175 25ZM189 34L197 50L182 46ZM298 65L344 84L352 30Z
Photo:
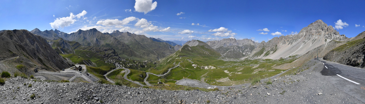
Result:
M228 58L247 56L259 45L259 43L255 43L250 39L236 40L231 38L207 41L206 43L222 54L222 56Z

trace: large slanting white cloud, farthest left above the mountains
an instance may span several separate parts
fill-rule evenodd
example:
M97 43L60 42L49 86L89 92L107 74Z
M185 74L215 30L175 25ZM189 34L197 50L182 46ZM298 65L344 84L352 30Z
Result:
M56 20L54 20L53 23L49 23L51 24L51 27L54 29L58 29L58 28L64 28L66 26L70 26L71 24L75 23L75 15L73 15L73 13L70 13L69 17L60 17L57 18Z

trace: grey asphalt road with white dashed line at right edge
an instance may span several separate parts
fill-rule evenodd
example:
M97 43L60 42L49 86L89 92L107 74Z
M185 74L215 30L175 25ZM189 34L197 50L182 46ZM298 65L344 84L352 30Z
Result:
M323 64L320 72L322 75L328 76L335 87L365 102L365 69L342 65L322 58L319 58L319 61Z

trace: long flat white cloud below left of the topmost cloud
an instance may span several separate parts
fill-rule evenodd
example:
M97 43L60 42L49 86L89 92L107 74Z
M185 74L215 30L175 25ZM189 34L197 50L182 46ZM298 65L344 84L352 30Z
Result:
M126 25L128 24L130 21L134 21L134 20L137 20L138 18L136 17L127 17L123 20L118 20L118 19L114 19L114 20L111 20L111 19L107 19L107 20L100 20L100 21L97 21L96 24L99 24L99 25Z

